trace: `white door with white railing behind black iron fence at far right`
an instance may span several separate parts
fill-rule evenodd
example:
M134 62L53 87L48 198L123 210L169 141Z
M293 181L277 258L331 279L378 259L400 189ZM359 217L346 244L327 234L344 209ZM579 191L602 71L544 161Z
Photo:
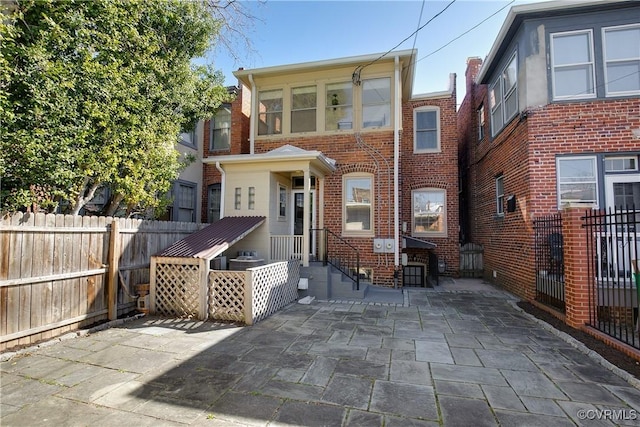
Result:
M607 213L616 214L610 223L620 224L607 227L600 235L599 255L605 255L606 262L601 264L598 276L631 281L631 262L640 257L640 227L635 224L640 214L629 215L633 215L630 211L634 206L636 211L640 209L640 174L606 175L605 202Z

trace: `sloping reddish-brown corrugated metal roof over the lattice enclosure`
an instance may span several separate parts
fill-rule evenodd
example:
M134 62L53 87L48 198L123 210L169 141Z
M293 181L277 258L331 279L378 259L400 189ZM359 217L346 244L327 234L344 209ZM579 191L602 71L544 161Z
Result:
M258 228L263 216L227 216L175 242L156 256L212 259Z

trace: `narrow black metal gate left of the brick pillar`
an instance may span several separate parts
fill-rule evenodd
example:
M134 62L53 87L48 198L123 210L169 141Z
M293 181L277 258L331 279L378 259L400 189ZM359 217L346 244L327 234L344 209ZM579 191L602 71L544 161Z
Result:
M536 300L564 313L564 242L560 214L536 218Z

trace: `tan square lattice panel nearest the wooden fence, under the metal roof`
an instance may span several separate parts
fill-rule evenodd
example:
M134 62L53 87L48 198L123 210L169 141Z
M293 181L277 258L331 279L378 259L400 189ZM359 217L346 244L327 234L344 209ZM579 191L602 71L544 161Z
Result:
M200 273L197 265L156 264L156 314L197 317Z

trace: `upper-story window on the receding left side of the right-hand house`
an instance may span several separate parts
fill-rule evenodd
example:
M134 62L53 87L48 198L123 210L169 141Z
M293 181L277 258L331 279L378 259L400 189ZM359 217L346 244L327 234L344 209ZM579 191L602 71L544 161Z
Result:
M518 58L513 55L489 87L491 135L495 136L518 112Z

